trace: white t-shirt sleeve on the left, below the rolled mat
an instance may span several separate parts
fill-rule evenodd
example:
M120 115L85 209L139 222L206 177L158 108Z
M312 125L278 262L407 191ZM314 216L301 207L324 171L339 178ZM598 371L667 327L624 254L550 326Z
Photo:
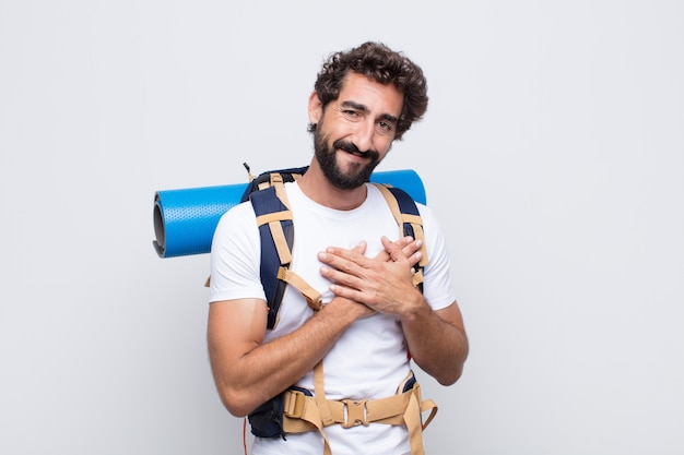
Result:
M260 256L259 229L251 204L238 204L221 217L214 231L209 301L266 300L259 276Z

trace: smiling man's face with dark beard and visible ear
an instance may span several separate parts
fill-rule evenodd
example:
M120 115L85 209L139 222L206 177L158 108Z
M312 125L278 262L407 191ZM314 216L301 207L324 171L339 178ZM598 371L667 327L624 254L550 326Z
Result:
M393 85L382 85L350 73L338 99L326 106L317 97L309 103L315 155L323 175L341 189L351 190L368 181L389 152L403 95ZM325 113L325 115L323 115Z

